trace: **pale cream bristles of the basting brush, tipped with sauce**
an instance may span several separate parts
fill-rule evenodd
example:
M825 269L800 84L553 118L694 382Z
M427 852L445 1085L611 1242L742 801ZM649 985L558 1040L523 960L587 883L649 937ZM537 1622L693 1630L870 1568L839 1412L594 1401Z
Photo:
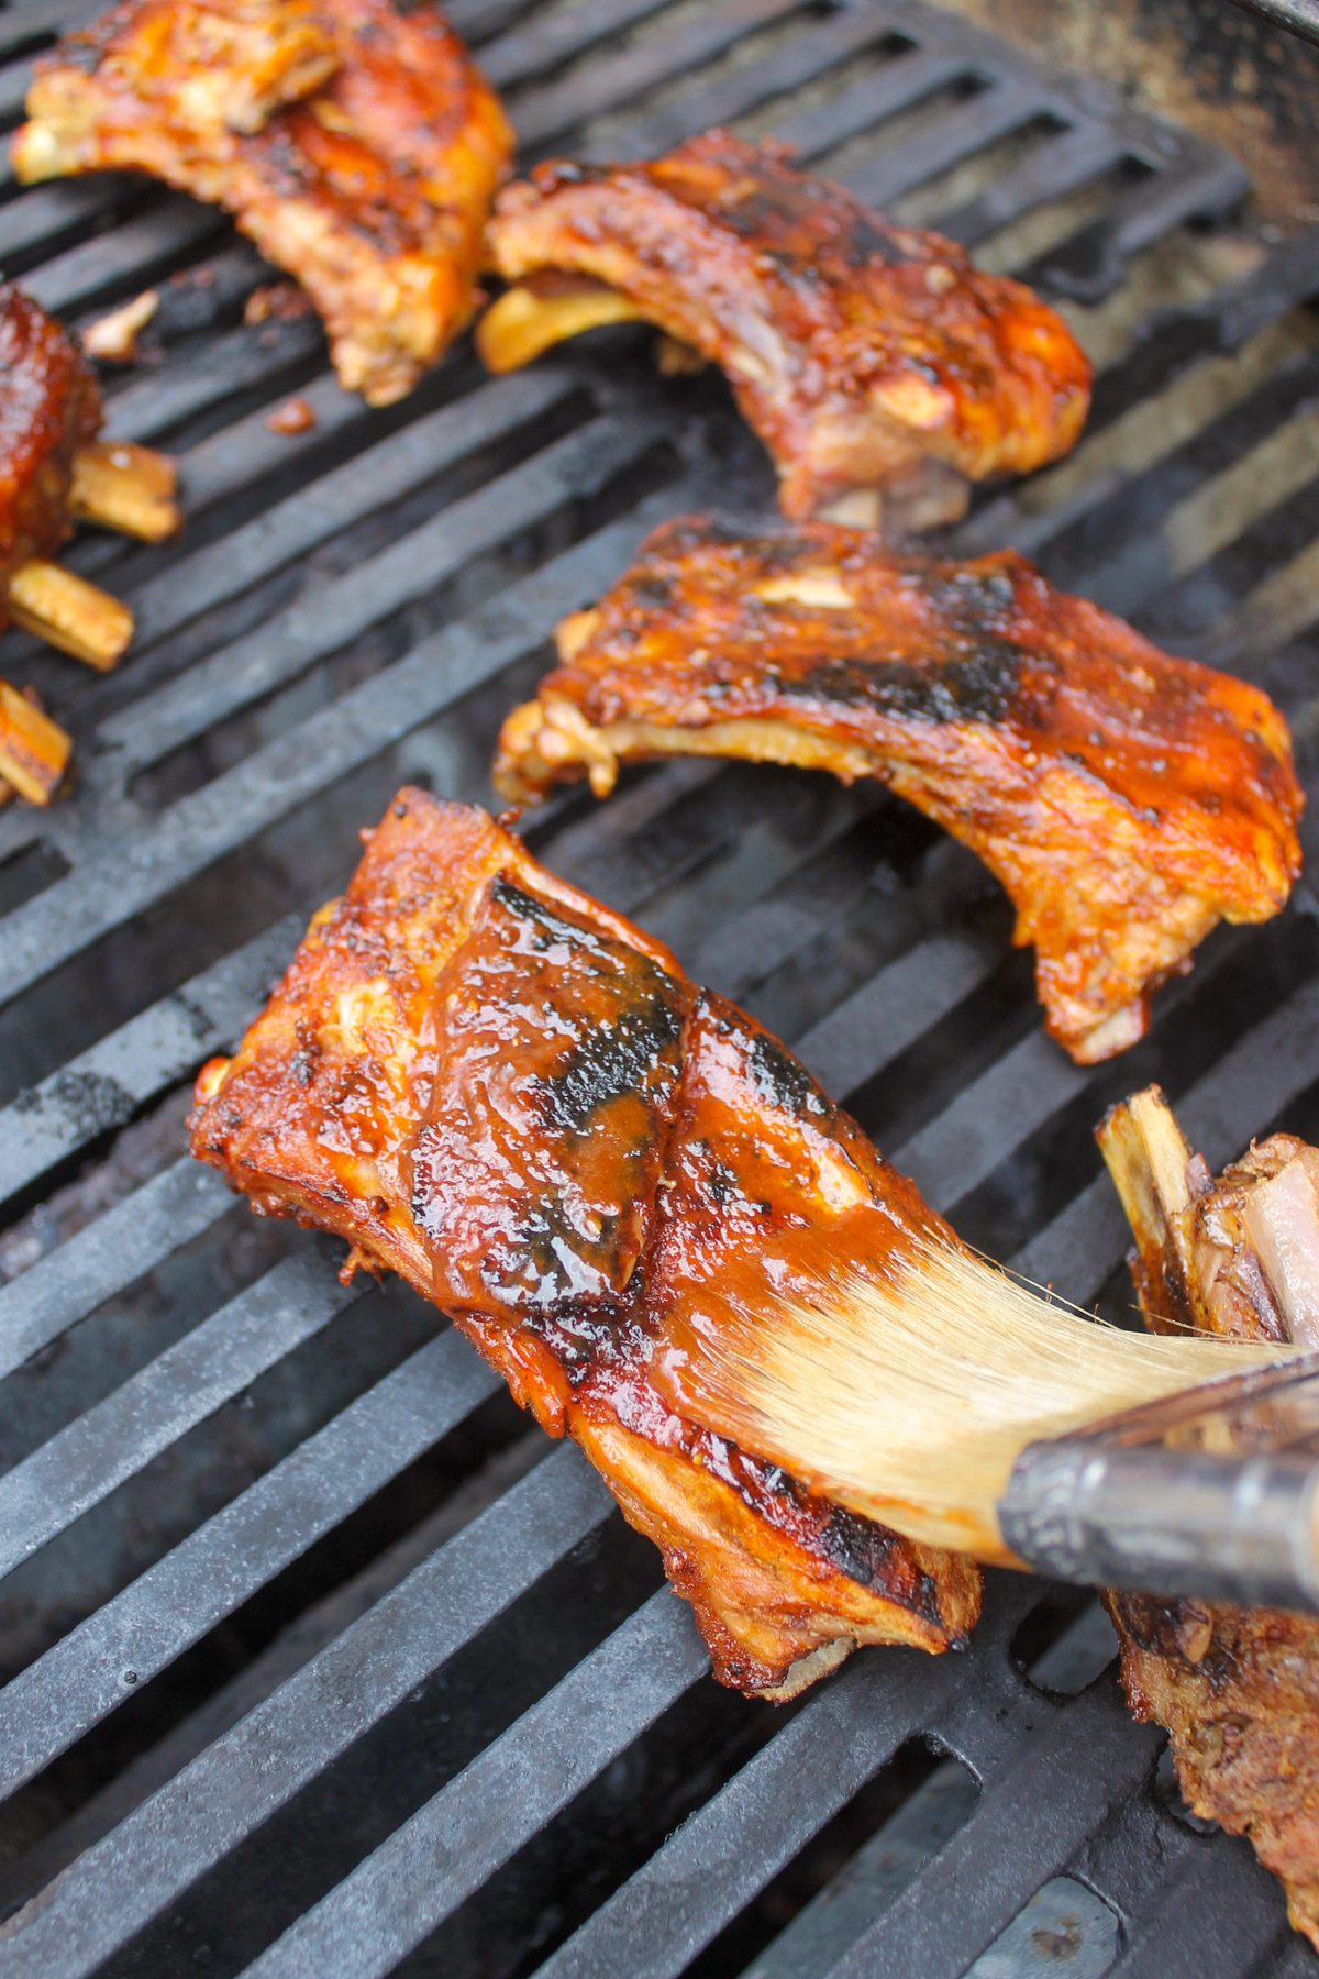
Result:
M811 1490L993 1561L1011 1559L995 1506L1028 1443L1285 1354L1121 1332L935 1237L886 1274L842 1269L753 1328L706 1334L684 1393Z

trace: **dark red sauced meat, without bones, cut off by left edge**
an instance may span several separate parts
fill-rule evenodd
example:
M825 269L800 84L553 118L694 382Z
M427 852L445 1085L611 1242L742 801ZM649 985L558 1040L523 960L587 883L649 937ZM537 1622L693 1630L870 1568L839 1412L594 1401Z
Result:
M101 425L101 394L69 332L0 287L0 623L10 578L69 536L73 453Z

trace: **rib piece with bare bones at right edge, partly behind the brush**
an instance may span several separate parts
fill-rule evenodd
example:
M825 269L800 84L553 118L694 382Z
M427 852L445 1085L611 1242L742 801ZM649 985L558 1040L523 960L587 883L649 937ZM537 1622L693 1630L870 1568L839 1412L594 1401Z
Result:
M1319 1148L1272 1134L1214 1179L1159 1086L1115 1106L1098 1138L1151 1332L1319 1348ZM1131 1710L1167 1726L1190 1809L1250 1837L1319 1949L1319 1617L1103 1599Z

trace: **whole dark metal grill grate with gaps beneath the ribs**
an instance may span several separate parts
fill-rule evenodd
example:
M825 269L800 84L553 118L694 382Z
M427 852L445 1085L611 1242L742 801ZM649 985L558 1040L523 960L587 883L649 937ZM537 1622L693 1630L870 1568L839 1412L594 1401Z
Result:
M0 10L10 123L93 12ZM918 4L451 12L528 158L736 121L1070 299L1090 431L955 546L1014 542L1258 679L1313 782L1319 241L1242 222L1230 158ZM69 556L136 610L117 677L12 631L0 655L79 764L49 813L0 811L0 1971L1319 1971L1250 1848L1179 1807L1096 1603L999 1575L965 1656L868 1650L787 1710L720 1692L572 1447L433 1310L344 1290L334 1245L180 1158L190 1077L394 788L486 798L556 617L660 517L771 505L724 386L660 386L617 330L506 380L461 348L368 412L314 323L241 325L271 277L220 214L125 178L2 198L4 271L71 321L162 283L109 425L180 453L188 526ZM275 435L291 392L316 424ZM1082 1071L993 883L874 788L676 764L528 831L973 1243L1113 1316L1109 1100L1161 1079L1212 1166L1279 1122L1319 1138L1305 883Z

